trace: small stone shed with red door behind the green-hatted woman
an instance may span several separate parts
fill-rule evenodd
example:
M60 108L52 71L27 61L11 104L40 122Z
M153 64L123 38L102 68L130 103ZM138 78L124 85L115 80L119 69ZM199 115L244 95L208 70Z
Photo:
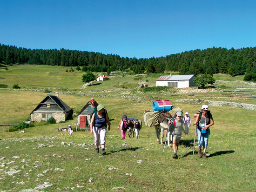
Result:
M91 117L94 112L94 107L97 107L98 103L92 98L85 104L81 111L77 114L78 116L78 126L85 128L91 123Z

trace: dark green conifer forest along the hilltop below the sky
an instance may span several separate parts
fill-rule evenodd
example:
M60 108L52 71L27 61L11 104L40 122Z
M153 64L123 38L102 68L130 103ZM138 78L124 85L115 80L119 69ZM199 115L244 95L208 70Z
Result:
M81 66L82 71L111 72L125 71L135 73L163 73L179 71L180 74L226 73L239 75L256 73L256 47L241 49L207 48L196 49L166 57L137 59L124 58L115 54L102 54L77 50L27 49L0 44L0 63L28 63L54 66ZM80 67L78 67L80 69Z

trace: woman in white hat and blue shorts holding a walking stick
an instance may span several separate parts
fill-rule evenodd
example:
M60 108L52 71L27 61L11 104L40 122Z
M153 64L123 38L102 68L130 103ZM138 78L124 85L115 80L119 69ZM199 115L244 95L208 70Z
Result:
M197 114L195 119L195 125L197 125L197 137L198 137L198 157L206 159L206 149L208 146L209 127L214 125L212 114L210 113L208 106L203 105L201 112ZM203 147L203 152L202 152Z

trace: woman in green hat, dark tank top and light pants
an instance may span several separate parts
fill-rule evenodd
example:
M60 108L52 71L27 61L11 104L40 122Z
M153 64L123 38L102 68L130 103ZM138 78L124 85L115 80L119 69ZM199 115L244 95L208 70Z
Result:
M95 117L96 115L96 117ZM91 133L94 134L94 143L96 146L95 152L99 153L99 144L101 140L101 155L105 155L106 134L110 130L110 122L108 114L105 112L105 108L102 105L97 106L97 112L93 113L91 119Z

